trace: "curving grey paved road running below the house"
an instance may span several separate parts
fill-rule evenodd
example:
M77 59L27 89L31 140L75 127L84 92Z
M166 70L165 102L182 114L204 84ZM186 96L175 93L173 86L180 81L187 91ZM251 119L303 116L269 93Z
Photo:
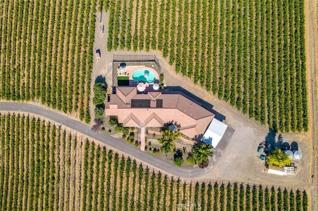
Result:
M135 148L132 145L129 145L125 142L122 142L114 137L106 133L101 132L93 132L90 126L85 125L79 121L71 119L67 116L59 114L55 111L46 109L44 107L25 104L25 103L7 103L0 102L0 110L2 111L14 111L14 112L28 112L33 113L39 116L43 116L45 118L51 119L57 123L60 123L66 127L71 128L72 130L78 131L81 134L84 134L92 139L105 143L113 149L117 149L127 155L130 155L133 158L137 158L142 160L145 163L148 163L152 166L155 166L167 173L180 176L183 178L194 178L204 174L204 170L196 167L191 169L177 167L171 163L168 163L162 159L156 158L149 153L142 152L139 148Z

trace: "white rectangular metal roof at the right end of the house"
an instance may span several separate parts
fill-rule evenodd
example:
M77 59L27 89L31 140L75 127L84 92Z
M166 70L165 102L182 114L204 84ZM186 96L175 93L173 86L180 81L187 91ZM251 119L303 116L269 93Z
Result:
M213 118L201 141L211 144L214 148L219 144L228 125Z

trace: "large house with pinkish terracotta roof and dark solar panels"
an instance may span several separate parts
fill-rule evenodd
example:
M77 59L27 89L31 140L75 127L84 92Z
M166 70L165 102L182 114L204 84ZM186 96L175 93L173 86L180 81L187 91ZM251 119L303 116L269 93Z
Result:
M139 94L136 87L115 87L115 94L105 104L105 114L117 118L124 127L161 127L173 121L189 138L204 134L215 116L181 92Z

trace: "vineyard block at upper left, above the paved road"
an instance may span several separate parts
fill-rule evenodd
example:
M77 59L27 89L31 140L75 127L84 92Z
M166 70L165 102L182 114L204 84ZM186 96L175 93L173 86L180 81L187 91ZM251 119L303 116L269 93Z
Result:
M0 2L0 98L39 100L90 122L96 0Z

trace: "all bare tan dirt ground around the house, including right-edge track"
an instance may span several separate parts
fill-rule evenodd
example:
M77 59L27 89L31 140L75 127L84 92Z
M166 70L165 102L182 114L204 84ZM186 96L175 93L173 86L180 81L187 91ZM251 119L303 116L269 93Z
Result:
M316 82L317 77L316 73L312 71L315 70L315 60L317 58L314 56L313 51L318 51L314 47L315 36L312 28L312 34L310 34L310 29L313 26L312 21L316 21L316 12L317 12L317 3L316 0L305 0L305 18L306 18L306 50L307 50L307 80L308 80L308 90L309 90L309 112L310 112L310 125L314 124L314 115L317 115L314 111L313 102L315 100L312 96L313 93L316 93ZM314 14L314 16L313 16ZM98 16L98 14L97 14ZM103 12L102 22L105 24L105 30L107 29L108 15ZM315 27L317 26L315 22ZM193 82L187 78L182 77L181 74L176 74L174 72L174 66L168 65L168 60L162 58L162 53L158 51L146 52L127 52L123 50L117 50L116 52L111 51L107 52L106 49L107 43L107 31L104 32L103 37L99 37L99 32L96 31L96 42L95 48L100 49L101 58L97 61L95 60L95 69L93 72L93 82L94 78L98 75L103 75L106 77L106 82L109 84L108 90L110 91L111 86L111 64L113 59L113 54L123 54L123 55L134 55L134 54L156 54L159 58L161 65L161 72L164 73L164 83L167 86L181 86L185 90L191 92L192 94L198 96L199 98L207 101L213 105L213 109L220 112L226 116L225 123L234 129L234 134L231 140L228 141L226 149L222 150L220 156L213 160L212 167L206 170L206 173L199 178L193 178L193 180L218 180L218 181L237 181L244 183L261 183L264 185L274 185L276 188L279 186L290 187L290 188L300 188L306 189L310 194L310 190L313 188L315 183L311 176L316 174L313 171L314 168L314 146L313 146L313 137L314 130L310 128L310 131L307 133L283 133L281 134L284 142L289 144L293 141L296 141L299 145L299 148L303 152L303 158L300 160L292 159L297 166L297 174L293 176L276 176L267 174L264 172L264 163L261 161L257 153L257 146L260 141L265 140L266 136L269 133L268 127L260 125L260 123L255 122L253 119L249 119L247 115L242 114L236 108L230 106L224 101L220 101L217 97L213 96L211 93L206 92L203 88L198 85L194 85ZM310 51L311 50L311 51ZM313 80L313 81L312 81ZM314 89L315 88L315 89ZM91 106L92 110L94 106ZM316 119L315 119L316 122ZM313 126L314 127L314 126ZM273 139L273 136L279 134L272 134L269 139ZM316 136L316 135L315 135ZM218 149L216 149L218 150ZM315 180L316 181L316 180ZM313 194L314 192L312 192ZM314 197L314 195L312 195ZM313 206L313 205L312 205Z

